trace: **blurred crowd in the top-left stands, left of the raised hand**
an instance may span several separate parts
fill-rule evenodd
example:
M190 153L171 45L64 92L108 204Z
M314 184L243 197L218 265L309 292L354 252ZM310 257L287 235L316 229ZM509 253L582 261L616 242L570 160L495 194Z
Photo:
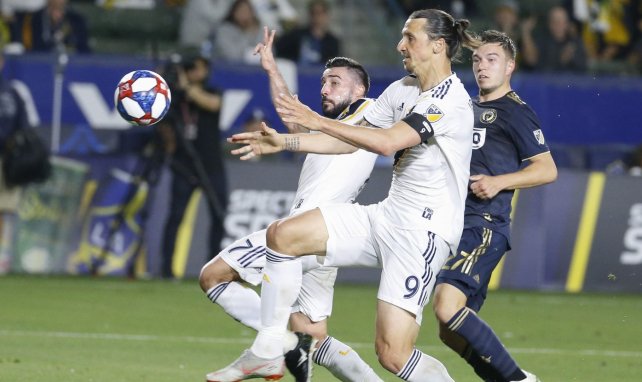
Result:
M95 15L77 11L87 9L86 1L68 0L0 0L0 44L5 51L88 54L93 49L91 36ZM307 2L307 17L300 20L288 0L97 0L95 9L109 14L131 10L131 17L121 18L125 28L140 23L139 29L171 29L163 20L158 26L143 25L138 11L152 12L160 8L171 12L180 21L176 28L177 50L198 50L212 59L257 63L253 55L262 40L263 26L268 25L280 35L276 47L280 57L297 63L319 64L340 54L340 40L330 31L330 2ZM140 13L138 13L140 14ZM89 16L89 17L88 17ZM170 23L171 24L171 23ZM136 28L132 28L136 30ZM137 36L124 36L127 40Z

